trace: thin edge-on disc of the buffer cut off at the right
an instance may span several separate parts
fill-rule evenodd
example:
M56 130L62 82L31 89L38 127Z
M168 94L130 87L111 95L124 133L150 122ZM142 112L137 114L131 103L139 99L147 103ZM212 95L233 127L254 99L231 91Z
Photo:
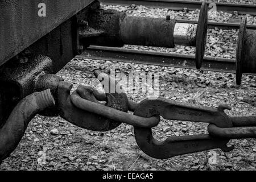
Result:
M241 20L240 30L238 34L238 42L237 42L237 55L236 55L236 79L237 85L241 85L242 80L242 63L243 63L243 45L245 42L245 32L246 32L246 22L247 18L244 16Z

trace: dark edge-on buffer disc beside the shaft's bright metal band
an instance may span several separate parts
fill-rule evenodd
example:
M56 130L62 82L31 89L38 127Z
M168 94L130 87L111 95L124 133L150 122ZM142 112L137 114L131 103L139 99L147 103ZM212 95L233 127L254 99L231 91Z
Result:
M196 68L200 69L203 63L205 46L207 43L208 6L203 2L196 30Z

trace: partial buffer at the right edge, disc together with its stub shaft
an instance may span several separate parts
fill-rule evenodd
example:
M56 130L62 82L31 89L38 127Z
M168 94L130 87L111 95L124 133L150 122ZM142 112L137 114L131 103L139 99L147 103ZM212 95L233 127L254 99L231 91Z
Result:
M256 31L247 29L246 24L247 18L243 17L237 42L237 85L241 85L243 73L256 73Z

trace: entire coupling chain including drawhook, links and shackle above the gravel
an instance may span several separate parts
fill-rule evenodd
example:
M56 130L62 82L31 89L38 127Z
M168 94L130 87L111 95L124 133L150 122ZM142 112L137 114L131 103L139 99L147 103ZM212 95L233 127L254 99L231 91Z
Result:
M117 88L117 82L109 75L94 72L96 77L100 74L103 75L102 80L109 78L108 86L114 84ZM214 109L165 98L146 99L137 104L129 101L125 92L105 94L89 86L80 85L70 94L71 88L72 86L64 81L58 85L61 117L93 131L113 130L121 123L132 125L139 148L152 158L167 159L214 148L229 152L234 148L227 146L230 139L256 138L256 117L229 117L224 112L225 109L231 109L227 105ZM108 89L110 88L111 86ZM134 114L127 111L133 111ZM208 134L168 137L162 142L158 141L152 135L152 127L159 124L160 116L174 121L209 123Z

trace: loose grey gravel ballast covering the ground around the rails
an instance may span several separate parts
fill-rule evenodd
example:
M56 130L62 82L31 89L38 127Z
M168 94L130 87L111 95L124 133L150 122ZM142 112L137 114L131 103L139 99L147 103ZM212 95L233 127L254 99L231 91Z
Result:
M252 1L246 1L252 2ZM105 9L125 11L128 15L179 17L196 20L199 10L183 13L167 9L148 9L142 6L104 6ZM249 23L256 24L256 18L249 16ZM209 16L210 17L210 16ZM210 20L228 22L232 14L218 13ZM234 59L236 56L237 30L208 30L205 55ZM129 46L125 48L157 52L195 54L195 48L177 46L174 49ZM93 76L94 70L109 73L158 73L159 95L168 100L188 102L200 106L217 107L226 104L230 116L254 115L256 82L255 76L244 75L242 85L236 85L236 75L230 73L197 71L153 65L117 63L102 60L75 58L57 75L65 81L78 85L100 88L100 82ZM140 102L147 94L127 94L130 100ZM161 122L154 128L154 137L164 140L167 137L205 134L206 123L184 121ZM233 139L229 145L236 147L224 153L220 149L197 152L171 159L157 160L139 150L135 142L133 127L121 124L105 133L80 129L60 117L32 119L16 150L0 166L1 170L255 170L255 139ZM212 157L216 162L212 162Z

